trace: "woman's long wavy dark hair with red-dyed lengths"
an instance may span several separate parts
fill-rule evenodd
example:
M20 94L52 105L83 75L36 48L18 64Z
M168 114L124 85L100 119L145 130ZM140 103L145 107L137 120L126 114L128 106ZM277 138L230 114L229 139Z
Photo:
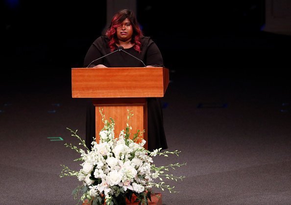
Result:
M121 25L121 23L126 18L130 21L133 28L131 43L134 44L134 49L136 51L141 52L141 36L143 35L143 32L133 12L128 9L120 10L112 18L111 24L105 34L110 39L109 47L111 48L111 51L114 50L115 45L118 43L117 34L116 34L117 28Z

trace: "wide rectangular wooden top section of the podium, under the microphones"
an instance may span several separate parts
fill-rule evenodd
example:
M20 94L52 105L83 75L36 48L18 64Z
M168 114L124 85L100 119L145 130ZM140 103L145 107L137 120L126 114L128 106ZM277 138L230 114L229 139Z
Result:
M73 98L163 97L168 85L168 68L72 68Z

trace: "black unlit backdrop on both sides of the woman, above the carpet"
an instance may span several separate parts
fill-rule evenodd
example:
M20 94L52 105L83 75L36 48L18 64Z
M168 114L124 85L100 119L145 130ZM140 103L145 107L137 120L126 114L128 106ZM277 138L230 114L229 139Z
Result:
M29 71L40 78L52 72L70 77L71 68L82 67L87 49L106 23L105 0L2 4L2 73L9 79L23 78ZM207 0L193 5L139 0L137 17L169 69L215 77L265 75L279 81L285 76L281 73L289 63L291 37L263 31L264 0Z

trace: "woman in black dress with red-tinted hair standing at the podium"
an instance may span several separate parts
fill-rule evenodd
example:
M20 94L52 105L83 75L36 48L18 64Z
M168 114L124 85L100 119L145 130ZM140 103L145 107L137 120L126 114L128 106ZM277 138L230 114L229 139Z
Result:
M117 12L104 36L98 37L90 46L84 67L128 68L164 67L158 46L150 37L145 37L132 11ZM150 68L149 68L150 69ZM95 106L90 103L86 113L86 145L96 134ZM148 150L167 149L160 98L147 98L147 146Z

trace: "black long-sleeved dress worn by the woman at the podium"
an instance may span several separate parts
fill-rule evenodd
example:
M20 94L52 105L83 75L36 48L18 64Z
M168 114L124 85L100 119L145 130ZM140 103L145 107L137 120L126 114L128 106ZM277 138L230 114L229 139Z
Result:
M104 36L94 41L85 56L84 67L88 67L89 64L89 67L94 67L99 64L103 64L108 68L145 67L141 61L143 61L146 66L163 67L161 52L150 37L141 38L142 46L140 53L136 51L134 47L124 49L141 61L122 51L117 51L100 60L94 61L95 59L111 53L108 41L109 39ZM118 47L116 46L116 48ZM88 148L91 148L91 142L96 134L95 130L95 107L90 102L86 114L86 145ZM147 98L147 147L149 151L158 148L168 148L164 131L162 105L160 98L157 97Z

